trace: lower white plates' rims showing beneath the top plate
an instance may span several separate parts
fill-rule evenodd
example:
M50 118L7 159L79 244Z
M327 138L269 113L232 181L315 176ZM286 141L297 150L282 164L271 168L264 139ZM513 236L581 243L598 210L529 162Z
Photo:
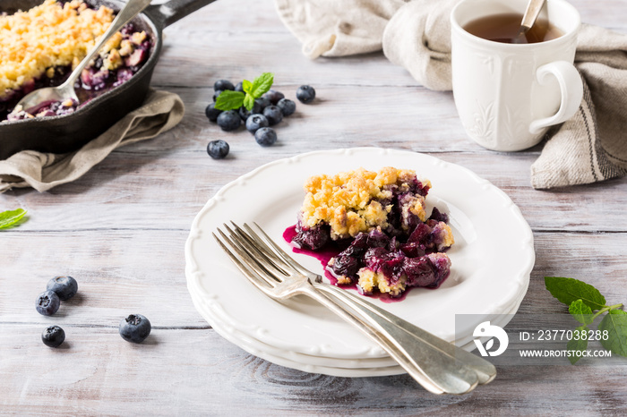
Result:
M491 320L493 325L505 327L511 319L511 315L518 311L520 302L524 298L524 294L520 295L510 311L506 311L503 316L498 316ZM282 351L271 345L266 345L257 339L246 336L237 331L236 328L230 328L222 323L219 319L210 315L209 309L204 308L202 300L193 297L196 309L201 312L202 317L213 323L212 328L216 330L220 336L226 338L234 345L238 345L248 353L259 356L266 361L277 363L281 366L293 368L296 370L304 370L312 373L322 373L335 377L377 377L387 375L399 375L405 373L390 356L386 358L365 358L365 359L338 359L321 356L312 356L303 353ZM468 352L475 349L476 345L471 340L473 337L468 336L468 343L461 345ZM458 344L460 345L460 344Z

